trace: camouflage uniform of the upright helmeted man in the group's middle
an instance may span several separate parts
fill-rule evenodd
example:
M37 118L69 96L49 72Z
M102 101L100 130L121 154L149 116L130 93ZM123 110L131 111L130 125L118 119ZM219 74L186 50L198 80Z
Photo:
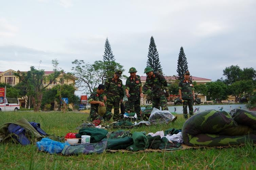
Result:
M126 110L137 113L140 117L140 87L142 83L140 76L136 75L135 79L131 76L126 80L125 88L129 90L130 97L126 102Z

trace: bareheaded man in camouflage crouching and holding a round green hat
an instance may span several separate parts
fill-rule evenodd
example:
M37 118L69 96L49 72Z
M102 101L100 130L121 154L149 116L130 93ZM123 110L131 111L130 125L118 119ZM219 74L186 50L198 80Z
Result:
M91 104L91 110L90 110L90 121L94 120L100 120L101 123L104 121L109 121L112 117L112 113L106 111L106 113L101 116L98 114L98 106L105 106L104 100L103 100L103 93L104 93L105 86L103 84L100 84L97 88L96 92L92 92L90 98L88 99L88 103Z

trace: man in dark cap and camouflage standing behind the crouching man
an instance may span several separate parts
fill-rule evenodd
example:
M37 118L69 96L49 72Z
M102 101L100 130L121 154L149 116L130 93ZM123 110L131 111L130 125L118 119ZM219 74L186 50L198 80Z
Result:
M123 102L124 98L124 89L122 80L120 77L122 75L122 71L118 70L115 72L114 77L108 78L105 82L105 92L104 92L104 100L107 104L107 111L112 110L114 106L114 115L113 120L117 121L119 119L119 104Z

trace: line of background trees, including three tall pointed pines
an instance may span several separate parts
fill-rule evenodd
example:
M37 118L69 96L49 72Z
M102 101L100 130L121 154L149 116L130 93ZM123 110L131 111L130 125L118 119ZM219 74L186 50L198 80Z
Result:
M104 45L103 60L94 61L93 63L85 63L84 60L74 60L72 62L72 72L65 73L64 70L58 68L58 61L52 60L54 73L49 76L44 76L44 70L37 70L34 66L30 67L28 72L17 71L15 76L19 77L20 82L16 86L8 84L0 84L0 87L6 85L8 87L8 97L31 98L34 110L43 109L46 104L54 100L61 102L62 97L68 97L69 102L77 104L79 96L74 95L76 89L84 92L92 93L98 84L104 84L107 77L113 76L116 70L124 71L120 63L116 63L113 55L110 42L106 38ZM160 64L158 51L154 37L151 36L148 48L148 60L146 66L150 66L154 71L163 74L162 66ZM178 83L184 78L184 73L189 70L184 48L180 47L177 62L177 76L176 80L169 82L169 92L172 95L178 94ZM59 78L62 75L62 78ZM256 83L256 71L254 68L240 68L238 65L228 66L224 68L223 75L225 79L220 78L214 82L207 82L206 84L197 84L194 82L195 95L202 94L207 96L207 100L214 100L220 102L226 100L229 95L235 96L235 102L240 98L248 98L250 107L254 107L256 101L254 84ZM64 79L76 78L76 84L64 84ZM125 75L124 78L127 78ZM59 79L58 79L59 78ZM48 80L48 84L43 84L43 81ZM58 81L57 81L58 80ZM51 89L47 87L52 82L56 83ZM254 99L255 98L255 99Z

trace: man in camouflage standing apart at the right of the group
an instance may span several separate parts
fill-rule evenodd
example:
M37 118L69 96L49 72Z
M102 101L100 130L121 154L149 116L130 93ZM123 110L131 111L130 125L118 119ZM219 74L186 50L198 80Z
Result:
M188 119L188 110L190 117L194 115L193 113L193 101L195 100L194 95L194 86L193 82L189 80L190 73L186 71L184 74L184 79L179 83L179 94L180 100L184 100L183 102L183 116L185 119Z

